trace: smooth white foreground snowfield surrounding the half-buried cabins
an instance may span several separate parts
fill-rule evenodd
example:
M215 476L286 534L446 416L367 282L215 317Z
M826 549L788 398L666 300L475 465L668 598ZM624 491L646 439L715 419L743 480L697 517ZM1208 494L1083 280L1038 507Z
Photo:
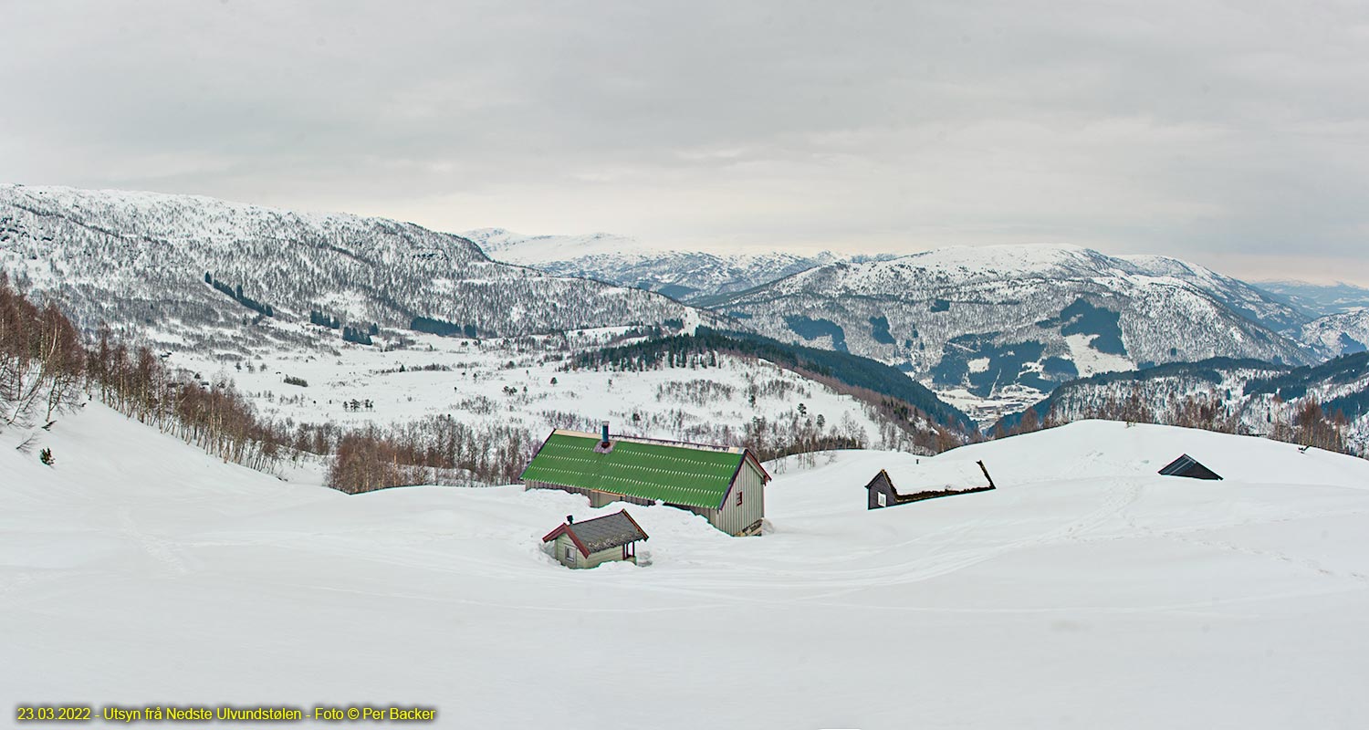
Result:
M426 705L441 727L1365 727L1369 462L1083 422L936 457L999 489L883 511L886 460L771 531L632 507L650 564L560 567L582 497L344 496L99 405L0 434L0 698ZM1187 452L1223 482L1154 473ZM5 725L5 723L0 723ZM218 723L227 726L227 723ZM304 725L312 725L305 722Z

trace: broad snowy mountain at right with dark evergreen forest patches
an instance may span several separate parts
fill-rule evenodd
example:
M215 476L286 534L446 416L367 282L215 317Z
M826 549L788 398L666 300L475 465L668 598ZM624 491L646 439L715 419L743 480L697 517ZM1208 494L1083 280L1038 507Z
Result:
M1243 282L1069 245L834 263L716 308L779 340L898 363L979 419L1094 373L1216 356L1316 359L1273 330L1306 318Z

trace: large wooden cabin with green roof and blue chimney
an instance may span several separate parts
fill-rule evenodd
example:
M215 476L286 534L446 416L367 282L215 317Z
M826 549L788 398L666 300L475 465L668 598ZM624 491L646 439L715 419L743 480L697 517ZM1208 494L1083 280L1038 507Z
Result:
M526 489L585 494L590 507L664 503L704 515L730 536L761 533L771 475L750 451L557 429L537 451Z

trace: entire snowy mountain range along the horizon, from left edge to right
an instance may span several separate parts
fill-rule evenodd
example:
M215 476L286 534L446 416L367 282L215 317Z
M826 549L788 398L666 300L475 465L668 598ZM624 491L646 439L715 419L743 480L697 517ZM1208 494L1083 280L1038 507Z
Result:
M720 255L22 185L0 185L0 268L88 329L179 347L286 337L263 319L465 337L704 323L872 357L980 422L1092 374L1210 357L1295 367L1369 344L1354 288L1255 288L1164 256ZM1317 316L1332 305L1347 311Z

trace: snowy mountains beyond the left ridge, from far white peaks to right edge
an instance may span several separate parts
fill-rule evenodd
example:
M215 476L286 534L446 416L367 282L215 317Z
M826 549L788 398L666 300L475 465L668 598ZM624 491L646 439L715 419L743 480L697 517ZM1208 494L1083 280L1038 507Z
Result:
M1205 357L1306 364L1365 340L1318 311L1165 256L1079 247L841 259L653 251L611 234L468 231L496 257L680 297L787 342L902 367L980 419L1094 373Z

